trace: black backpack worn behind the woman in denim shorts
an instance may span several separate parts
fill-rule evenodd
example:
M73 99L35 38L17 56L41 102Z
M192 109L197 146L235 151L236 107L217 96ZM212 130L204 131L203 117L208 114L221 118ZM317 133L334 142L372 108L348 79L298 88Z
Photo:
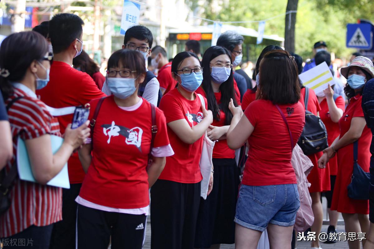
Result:
M305 155L312 155L328 147L327 131L321 118L307 111L309 88L305 87L305 126L297 144Z

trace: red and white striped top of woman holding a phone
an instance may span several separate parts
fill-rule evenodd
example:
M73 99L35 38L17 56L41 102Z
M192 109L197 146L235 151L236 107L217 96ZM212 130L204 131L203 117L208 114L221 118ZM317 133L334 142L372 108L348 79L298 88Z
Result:
M44 134L61 136L59 124L47 111L45 104L37 99L35 93L22 84L15 84L13 96L5 101L25 96L17 100L8 111L13 135L13 158L6 165L9 172L16 158L17 134L24 140L40 137ZM43 148L40 148L43 150ZM31 225L45 226L62 220L62 191L29 181L15 180L10 193L11 206L0 215L0 237L9 237Z

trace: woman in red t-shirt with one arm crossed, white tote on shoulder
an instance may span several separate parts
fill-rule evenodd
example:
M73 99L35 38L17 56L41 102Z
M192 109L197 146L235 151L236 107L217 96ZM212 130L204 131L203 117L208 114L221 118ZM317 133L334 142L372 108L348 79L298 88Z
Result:
M171 72L178 86L162 97L160 109L175 154L166 159L165 169L151 189L151 248L192 249L203 179L199 166L203 135L213 116L195 93L203 80L197 56L177 54ZM210 181L208 194L213 173Z

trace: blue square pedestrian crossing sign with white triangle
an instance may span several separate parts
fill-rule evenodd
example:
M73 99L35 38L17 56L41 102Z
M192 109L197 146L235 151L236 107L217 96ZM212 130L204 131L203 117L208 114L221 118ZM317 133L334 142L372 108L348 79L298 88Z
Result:
M368 49L373 47L373 32L370 24L347 24L347 47Z

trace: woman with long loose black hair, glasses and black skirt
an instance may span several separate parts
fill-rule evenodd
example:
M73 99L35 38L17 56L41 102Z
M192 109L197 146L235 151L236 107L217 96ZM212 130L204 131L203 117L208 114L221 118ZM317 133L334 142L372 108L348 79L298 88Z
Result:
M199 217L195 236L195 248L219 248L220 244L233 244L235 231L235 206L239 170L235 150L227 146L226 133L233 117L229 109L230 99L240 105L234 93L232 61L229 50L209 47L203 56L203 82L197 89L208 101L213 123L208 137L218 140L213 149L214 185L206 200L200 198Z

